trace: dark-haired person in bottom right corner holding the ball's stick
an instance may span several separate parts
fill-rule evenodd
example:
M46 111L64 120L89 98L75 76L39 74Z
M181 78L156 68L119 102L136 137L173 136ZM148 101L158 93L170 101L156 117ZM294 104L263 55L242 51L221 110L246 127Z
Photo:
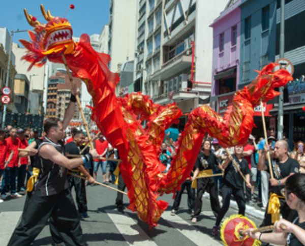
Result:
M297 211L297 217L293 222L280 219L275 223L275 232L252 233L254 229L248 229L245 231L246 235L277 245L305 245L305 174L290 175L286 179L284 193L288 206Z

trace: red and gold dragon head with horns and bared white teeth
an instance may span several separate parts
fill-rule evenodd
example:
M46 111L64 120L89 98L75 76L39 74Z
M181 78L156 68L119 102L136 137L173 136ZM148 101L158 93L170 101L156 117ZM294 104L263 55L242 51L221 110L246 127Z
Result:
M69 54L74 51L75 43L72 39L72 27L70 22L61 17L53 17L50 11L45 11L41 5L41 12L48 21L46 24L40 23L35 17L29 15L24 9L27 22L34 27L34 32L28 31L31 42L20 40L27 48L27 53L22 57L29 62L31 66L41 67L46 63L47 57L54 57L62 54Z

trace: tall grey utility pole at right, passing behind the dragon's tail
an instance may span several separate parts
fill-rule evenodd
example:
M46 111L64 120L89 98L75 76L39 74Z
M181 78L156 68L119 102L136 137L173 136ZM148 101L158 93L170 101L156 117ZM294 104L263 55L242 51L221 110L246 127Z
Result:
M284 47L285 47L285 0L281 0L281 22L280 22L280 58L284 58ZM284 124L284 87L279 88L281 93L279 96L279 112L278 112L278 139L283 138L283 124Z

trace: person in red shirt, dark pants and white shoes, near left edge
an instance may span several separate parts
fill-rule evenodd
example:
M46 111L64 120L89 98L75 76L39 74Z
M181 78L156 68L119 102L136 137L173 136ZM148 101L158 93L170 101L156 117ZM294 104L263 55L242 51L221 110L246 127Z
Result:
M6 139L6 142L8 144L9 151L6 155L7 165L5 165L5 172L4 172L4 182L2 182L2 192L1 192L1 198L4 200L6 199L6 190L7 186L10 183L11 187L11 197L13 198L19 198L21 197L20 194L16 191L16 176L18 173L18 148L19 148L19 142L20 140L17 138L17 129L12 128L10 131L10 137ZM13 151L13 156L10 158L10 152Z

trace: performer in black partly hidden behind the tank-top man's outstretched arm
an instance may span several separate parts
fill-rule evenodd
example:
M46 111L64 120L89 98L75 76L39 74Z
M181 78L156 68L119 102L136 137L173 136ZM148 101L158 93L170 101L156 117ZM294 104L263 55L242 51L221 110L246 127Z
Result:
M79 155L80 147L83 144L84 138L85 138L84 133L82 131L77 130L73 135L73 141L65 145L66 155L69 153L72 155ZM84 167L82 167L81 170L79 168L72 169L70 172L78 176L85 174L88 177L88 181L90 183L94 182L94 178L90 176L90 174L87 172L87 170ZM87 209L85 180L68 174L68 183L69 183L70 191L72 190L73 187L75 189L76 204L78 207L78 211L81 214L81 217L89 218L87 214L88 209Z

